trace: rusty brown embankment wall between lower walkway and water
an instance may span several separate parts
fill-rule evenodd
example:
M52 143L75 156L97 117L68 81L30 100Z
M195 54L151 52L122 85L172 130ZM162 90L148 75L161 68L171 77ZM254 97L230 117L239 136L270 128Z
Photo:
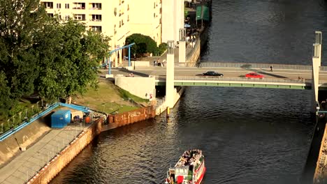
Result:
M27 183L49 183L94 137L100 134L102 123L103 118L99 118L87 130L81 132L71 144L64 148Z

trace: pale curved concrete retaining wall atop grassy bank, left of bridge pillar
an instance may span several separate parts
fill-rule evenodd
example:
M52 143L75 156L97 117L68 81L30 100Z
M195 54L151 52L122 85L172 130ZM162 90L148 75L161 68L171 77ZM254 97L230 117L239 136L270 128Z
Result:
M155 77L115 77L115 85L140 98L154 98Z

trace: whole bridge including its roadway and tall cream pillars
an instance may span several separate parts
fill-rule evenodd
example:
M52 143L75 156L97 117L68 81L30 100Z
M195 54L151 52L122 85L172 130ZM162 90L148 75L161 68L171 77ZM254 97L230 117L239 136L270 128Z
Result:
M181 34L182 35L182 34ZM276 88L276 89L312 89L312 112L317 112L318 92L327 89L327 68L321 66L321 31L315 32L313 44L313 56L311 66L280 65L273 64L273 71L270 72L270 64L262 63L219 63L202 62L198 67L186 66L184 55L184 40L180 36L179 60L175 62L174 41L168 41L166 54L167 62L164 67L140 67L134 68L133 75L140 77L154 76L153 80L143 79L141 85L166 86L166 104L173 107L175 86L232 86L232 87L255 87L255 88ZM208 70L215 70L224 74L224 77L206 77L201 75ZM118 70L124 72L127 70ZM131 72L131 71L128 71ZM265 76L264 79L245 79L248 72L258 72ZM151 77L151 78L154 78ZM132 82L120 82L131 86ZM138 85L138 84L136 84ZM143 88L143 86L141 88ZM152 91L149 89L148 91ZM145 93L147 95L147 93Z

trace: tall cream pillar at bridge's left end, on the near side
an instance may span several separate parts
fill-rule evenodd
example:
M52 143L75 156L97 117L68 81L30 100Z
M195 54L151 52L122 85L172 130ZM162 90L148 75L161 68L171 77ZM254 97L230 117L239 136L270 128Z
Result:
M166 104L167 107L174 107L174 41L167 42L167 65L166 65Z

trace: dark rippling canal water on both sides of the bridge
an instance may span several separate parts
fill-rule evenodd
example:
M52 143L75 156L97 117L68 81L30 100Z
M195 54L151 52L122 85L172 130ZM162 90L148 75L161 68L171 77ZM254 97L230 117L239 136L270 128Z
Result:
M201 61L310 65L314 31L327 33L325 1L212 6ZM103 132L52 183L163 183L190 148L203 150L205 184L299 183L314 129L309 112L310 91L189 87L168 120Z

